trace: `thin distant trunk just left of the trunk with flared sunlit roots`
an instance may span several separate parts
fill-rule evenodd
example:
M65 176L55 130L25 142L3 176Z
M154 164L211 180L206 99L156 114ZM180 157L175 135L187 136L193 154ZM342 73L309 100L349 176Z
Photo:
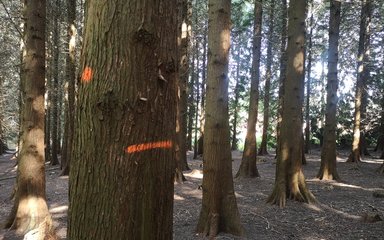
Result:
M271 1L269 6L269 26L268 26L268 46L267 46L267 69L265 73L264 86L264 120L263 120L263 135L259 148L259 155L268 155L268 128L269 128L269 99L271 92L272 79L272 48L273 48L273 31L274 31L274 15L275 15L275 0Z

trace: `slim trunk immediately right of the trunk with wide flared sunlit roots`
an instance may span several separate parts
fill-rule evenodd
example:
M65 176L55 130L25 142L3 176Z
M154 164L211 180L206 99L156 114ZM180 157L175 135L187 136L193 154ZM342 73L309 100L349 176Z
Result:
M327 76L327 107L324 126L324 140L321 150L321 166L317 177L324 180L340 180L336 169L336 112L337 64L339 59L339 29L340 29L341 3L331 0L329 19L329 47L328 47L328 76Z

